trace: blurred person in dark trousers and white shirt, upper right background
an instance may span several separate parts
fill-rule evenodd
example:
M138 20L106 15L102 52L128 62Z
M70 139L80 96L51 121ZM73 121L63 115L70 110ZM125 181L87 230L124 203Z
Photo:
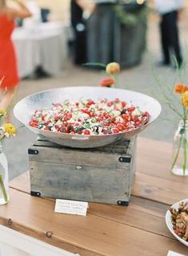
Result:
M162 44L162 66L170 65L170 50L173 51L178 67L182 66L182 53L178 36L178 12L183 0L154 0L154 6L161 14L160 33Z

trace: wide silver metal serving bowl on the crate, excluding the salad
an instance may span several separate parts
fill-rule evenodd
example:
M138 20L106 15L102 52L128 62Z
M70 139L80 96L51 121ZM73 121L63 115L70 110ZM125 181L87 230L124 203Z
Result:
M80 98L92 98L94 100L98 100L99 98L106 98L108 100L119 98L121 101L125 101L128 104L139 106L143 111L148 111L150 113L150 122L134 130L119 134L104 135L63 134L59 132L39 130L38 128L29 126L30 118L34 114L35 110L42 109L43 107L50 108L52 103L63 102L66 99L77 102ZM62 146L78 148L105 146L120 138L131 138L144 130L146 126L149 126L154 119L158 118L160 112L161 105L154 98L151 98L146 94L140 94L131 90L102 87L65 87L44 90L23 98L16 104L16 106L14 106L15 117L35 134Z

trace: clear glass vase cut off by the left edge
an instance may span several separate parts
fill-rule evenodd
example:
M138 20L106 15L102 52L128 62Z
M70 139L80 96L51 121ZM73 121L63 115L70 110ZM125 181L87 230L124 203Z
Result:
M8 162L6 155L2 151L0 145L0 205L4 205L9 201L9 175Z

